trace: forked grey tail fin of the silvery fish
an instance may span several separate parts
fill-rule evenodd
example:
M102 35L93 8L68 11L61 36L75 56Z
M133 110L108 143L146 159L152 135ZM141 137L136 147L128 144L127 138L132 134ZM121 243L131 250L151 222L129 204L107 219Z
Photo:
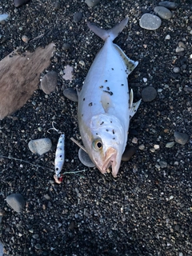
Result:
M103 30L90 22L87 22L87 26L89 26L90 30L92 30L94 34L97 34L99 38L102 38L102 40L106 41L106 39L110 37L111 41L114 41L114 38L117 38L118 34L122 32L127 22L128 18L124 18L118 23L118 25L114 26L110 30Z

